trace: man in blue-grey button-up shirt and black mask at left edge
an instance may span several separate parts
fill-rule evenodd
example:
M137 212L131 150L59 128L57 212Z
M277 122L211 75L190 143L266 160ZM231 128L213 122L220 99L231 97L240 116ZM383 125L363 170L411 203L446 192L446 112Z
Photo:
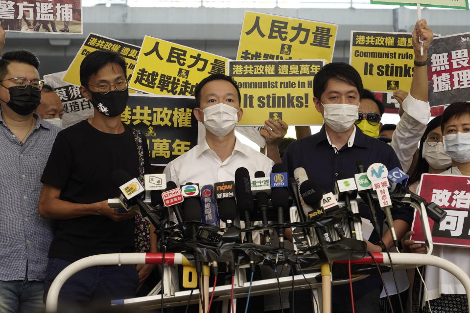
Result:
M0 60L0 312L43 312L50 221L38 214L40 178L59 128L34 110L43 81L38 57L9 51Z

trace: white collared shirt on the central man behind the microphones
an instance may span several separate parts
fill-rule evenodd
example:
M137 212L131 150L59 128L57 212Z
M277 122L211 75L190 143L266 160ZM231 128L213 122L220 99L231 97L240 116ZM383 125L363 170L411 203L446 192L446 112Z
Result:
M173 180L177 186L193 182L202 187L214 182L235 180L235 171L239 167L248 169L250 178L254 178L257 171L263 171L268 176L273 165L274 162L267 156L238 139L235 139L232 155L222 162L204 139L200 145L169 162L164 174L167 181Z

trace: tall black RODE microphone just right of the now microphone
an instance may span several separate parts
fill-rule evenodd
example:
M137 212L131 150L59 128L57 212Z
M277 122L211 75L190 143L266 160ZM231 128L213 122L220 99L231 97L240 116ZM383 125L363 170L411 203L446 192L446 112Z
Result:
M244 216L245 227L251 227L250 214L253 212L254 204L251 194L250 173L244 167L239 167L235 171L235 198L240 216ZM246 241L253 243L251 231L246 232Z

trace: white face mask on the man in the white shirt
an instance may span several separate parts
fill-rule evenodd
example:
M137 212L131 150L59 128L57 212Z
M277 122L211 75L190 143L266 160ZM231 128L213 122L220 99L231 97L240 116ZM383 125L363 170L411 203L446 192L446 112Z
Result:
M223 137L230 133L238 123L238 111L224 103L215 104L204 110L204 126L212 134Z

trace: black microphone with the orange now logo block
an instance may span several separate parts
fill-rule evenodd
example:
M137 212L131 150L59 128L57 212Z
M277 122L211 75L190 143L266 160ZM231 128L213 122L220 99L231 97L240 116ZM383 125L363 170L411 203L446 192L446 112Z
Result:
M214 189L220 219L230 227L236 218L235 182L216 182Z

